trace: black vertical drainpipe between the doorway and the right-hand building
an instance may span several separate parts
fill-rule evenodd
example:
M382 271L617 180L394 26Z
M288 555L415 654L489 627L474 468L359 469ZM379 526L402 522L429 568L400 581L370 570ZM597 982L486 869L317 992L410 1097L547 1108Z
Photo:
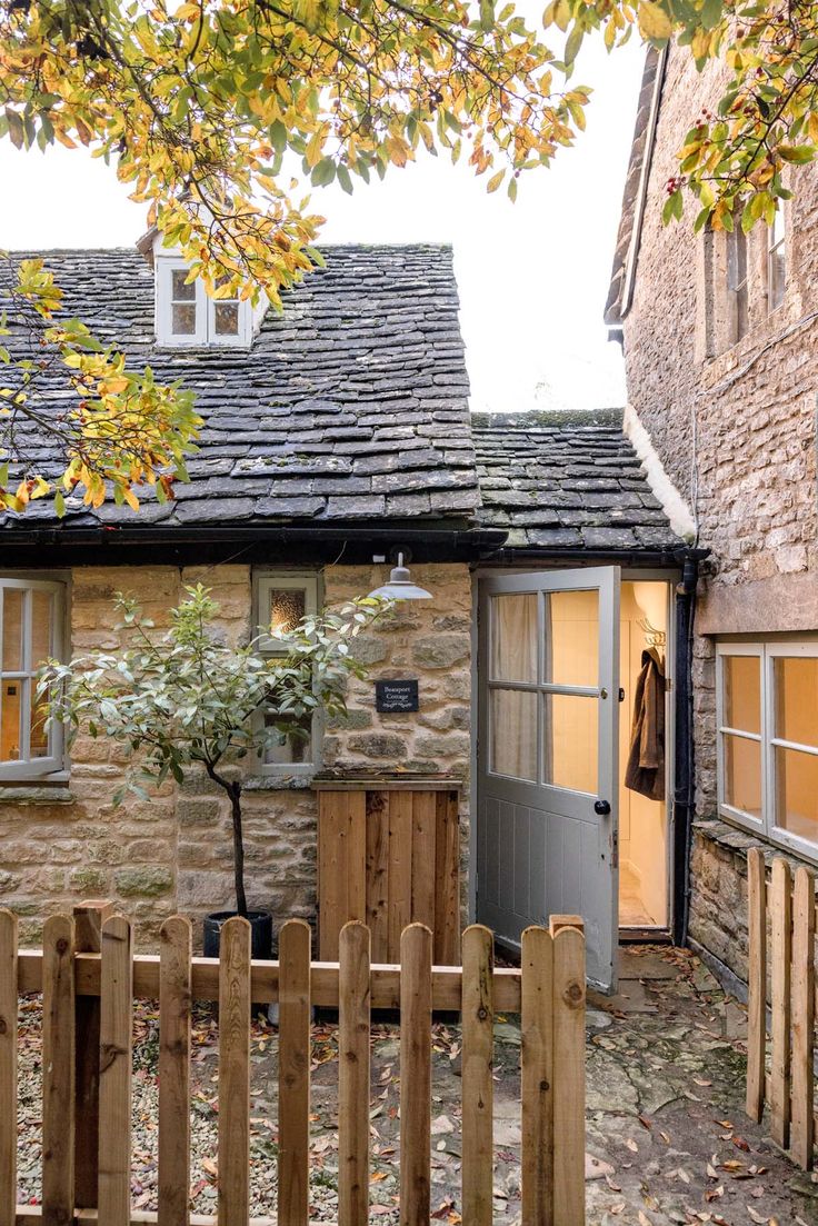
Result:
M673 788L673 942L687 944L690 847L695 803L693 748L693 619L698 559L687 554L676 587L676 782Z

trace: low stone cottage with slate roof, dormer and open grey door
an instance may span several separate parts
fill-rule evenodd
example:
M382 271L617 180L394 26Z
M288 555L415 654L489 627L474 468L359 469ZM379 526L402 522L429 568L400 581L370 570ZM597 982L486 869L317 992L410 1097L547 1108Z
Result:
M611 986L621 926L671 932L683 918L689 764L676 743L687 743L698 558L687 521L622 413L470 417L448 248L325 255L282 315L262 316L185 284L184 264L155 235L136 251L47 254L66 310L131 363L183 379L205 428L173 503L134 514L69 500L60 521L38 501L2 524L0 897L29 935L88 895L117 900L147 937L175 910L229 905L227 813L206 780L114 810L119 748L80 737L69 761L58 732L32 717L33 672L49 650L118 646L117 591L161 625L201 580L239 640L367 593L402 552L432 598L399 606L363 640L369 676L353 683L343 720L316 721L298 753L285 738L250 772L250 905L277 922L324 915L325 837L345 880L367 874L361 897L351 886L332 895L336 921L372 905L437 924L440 900L421 911L413 878L417 830L434 843L443 810L418 817L418 802L399 837L403 802L389 797L445 792L457 929L477 916L515 948L527 923L583 912L591 977ZM64 395L49 385L43 408ZM55 462L36 435L21 441L45 471ZM652 796L623 783L649 642L673 682ZM417 682L417 710L379 710L378 679ZM380 799L321 809L327 791L356 788ZM378 881L400 885L400 904L372 894L372 823L390 803ZM354 837L353 817L327 824L353 810ZM342 843L350 857L358 847L359 864L340 858Z

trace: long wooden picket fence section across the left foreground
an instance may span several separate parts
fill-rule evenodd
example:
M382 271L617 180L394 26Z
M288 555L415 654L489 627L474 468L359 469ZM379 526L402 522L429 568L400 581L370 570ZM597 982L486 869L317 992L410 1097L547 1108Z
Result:
M401 964L370 965L369 929L341 931L338 962L312 962L299 920L278 961L250 960L250 927L229 920L221 956L194 958L190 923L162 927L159 956L134 955L132 928L109 904L47 921L42 951L17 950L0 911L0 1226L248 1226L251 1002L278 1002L277 1219L309 1219L310 1005L338 1009L340 1226L369 1215L370 1010L400 1009L400 1221L428 1226L432 1014L462 1022L462 1220L489 1226L493 1194L493 1024L521 1014L524 1226L584 1222L585 940L581 920L554 917L522 934L520 969L495 969L493 937L462 934L462 966L433 966L419 923L402 933ZM16 1204L17 997L43 993L42 1205ZM134 999L159 1002L158 1214L130 1197ZM218 1002L217 1216L191 1215L191 1002Z

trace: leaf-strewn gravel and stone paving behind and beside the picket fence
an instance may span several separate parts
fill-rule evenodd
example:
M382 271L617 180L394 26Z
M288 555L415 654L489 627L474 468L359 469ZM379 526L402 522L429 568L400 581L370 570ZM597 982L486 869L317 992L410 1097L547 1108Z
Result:
M587 1029L586 1190L590 1226L715 1226L766 1222L817 1226L818 1183L797 1171L764 1128L742 1111L744 1013L725 998L692 955L670 949L624 953L614 998L591 997ZM20 1200L40 1188L40 1007L21 1000ZM156 1209L158 1014L142 1002L135 1022L132 1198ZM494 1221L520 1214L516 1018L495 1029ZM397 1222L399 1030L373 1027L370 1215ZM275 1027L253 1025L251 1213L276 1203L277 1053ZM212 1015L194 1024L191 1205L216 1211L218 1032ZM460 1222L460 1035L435 1024L432 1209ZM330 1024L313 1030L310 1198L314 1220L337 1215L337 1042Z

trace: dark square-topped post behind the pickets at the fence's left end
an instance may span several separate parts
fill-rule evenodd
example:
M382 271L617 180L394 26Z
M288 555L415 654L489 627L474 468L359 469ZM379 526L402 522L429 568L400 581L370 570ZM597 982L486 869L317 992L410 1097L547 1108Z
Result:
M87 899L74 908L74 949L98 954L102 926L114 913L113 902ZM97 1208L99 1157L99 997L76 997L74 1090L74 1204Z

